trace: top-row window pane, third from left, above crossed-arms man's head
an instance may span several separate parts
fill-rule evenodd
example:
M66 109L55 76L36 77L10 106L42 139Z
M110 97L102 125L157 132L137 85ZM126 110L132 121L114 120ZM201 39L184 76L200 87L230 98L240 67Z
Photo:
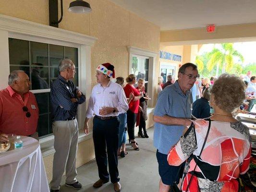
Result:
M50 66L59 66L60 61L64 59L64 47L58 45L49 45Z

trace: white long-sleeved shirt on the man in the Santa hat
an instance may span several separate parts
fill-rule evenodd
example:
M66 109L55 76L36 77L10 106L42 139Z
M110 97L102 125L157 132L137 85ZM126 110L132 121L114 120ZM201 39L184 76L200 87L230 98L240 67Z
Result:
M86 118L92 118L93 115L99 115L99 109L102 107L117 108L118 112L110 113L108 116L118 116L128 110L129 106L120 84L109 82L106 87L96 84L89 99Z

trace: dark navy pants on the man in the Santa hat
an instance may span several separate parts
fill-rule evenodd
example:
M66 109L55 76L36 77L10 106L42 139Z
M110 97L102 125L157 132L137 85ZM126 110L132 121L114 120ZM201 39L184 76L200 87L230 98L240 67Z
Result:
M117 168L118 140L119 121L117 118L110 120L93 119L93 142L98 165L98 175L100 179L111 180L112 183L120 180L118 178L119 172ZM108 162L110 173L107 169Z

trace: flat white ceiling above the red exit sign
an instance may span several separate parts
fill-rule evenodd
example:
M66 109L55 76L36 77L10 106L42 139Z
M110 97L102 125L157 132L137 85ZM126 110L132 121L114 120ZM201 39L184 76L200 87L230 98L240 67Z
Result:
M256 0L111 0L161 31L256 23Z

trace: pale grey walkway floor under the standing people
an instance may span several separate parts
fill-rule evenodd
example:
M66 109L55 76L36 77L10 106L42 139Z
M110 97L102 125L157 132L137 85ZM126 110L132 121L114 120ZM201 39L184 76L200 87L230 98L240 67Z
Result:
M156 149L153 146L153 127L148 129L149 138L136 138L139 151L126 144L128 155L118 159L118 168L122 192L158 192L158 163ZM61 182L61 192L114 192L111 182L95 189L92 185L98 180L96 161L91 161L77 169L77 180L83 184L81 190L66 187L64 177Z

